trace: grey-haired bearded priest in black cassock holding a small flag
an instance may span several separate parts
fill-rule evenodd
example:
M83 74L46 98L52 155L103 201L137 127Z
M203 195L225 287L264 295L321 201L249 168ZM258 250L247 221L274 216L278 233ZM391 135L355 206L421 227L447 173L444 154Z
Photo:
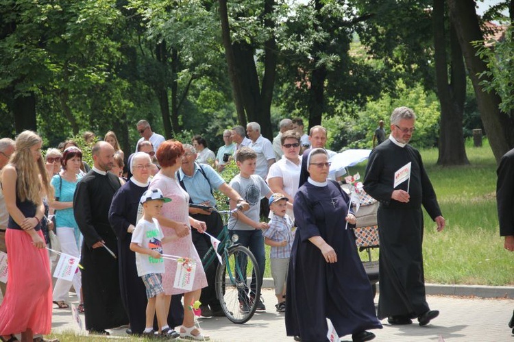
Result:
M378 318L390 324L410 324L416 318L424 326L439 315L426 302L423 270L423 212L445 226L434 188L423 167L421 155L408 142L415 130L411 108L400 107L391 114L391 135L369 156L364 190L380 202L380 297ZM411 162L410 178L394 186L395 173Z

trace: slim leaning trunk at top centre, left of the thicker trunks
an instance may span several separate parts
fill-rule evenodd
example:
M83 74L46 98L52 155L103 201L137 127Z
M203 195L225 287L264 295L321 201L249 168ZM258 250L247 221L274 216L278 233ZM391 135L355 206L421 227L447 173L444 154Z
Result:
M228 25L227 0L219 0L219 16L221 20L221 36L223 47L225 47L225 56L227 58L228 75L230 84L232 85L232 96L236 106L238 123L246 127L246 113L243 106L243 96L241 95L241 85L236 71L236 61L234 51L232 49L232 40L230 39L230 26Z

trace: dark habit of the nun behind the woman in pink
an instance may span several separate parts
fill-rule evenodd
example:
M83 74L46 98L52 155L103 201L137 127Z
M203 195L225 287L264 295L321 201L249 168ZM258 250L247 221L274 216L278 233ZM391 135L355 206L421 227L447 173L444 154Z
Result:
M132 234L127 232L129 225L136 225L138 206L141 196L148 186L138 186L131 180L123 184L114 195L109 210L109 221L118 237L119 284L121 300L127 310L130 329L134 334L141 334L146 327L147 295L143 280L138 276L136 254L130 250ZM173 296L169 326L175 327L182 323L184 307L180 303L180 295Z

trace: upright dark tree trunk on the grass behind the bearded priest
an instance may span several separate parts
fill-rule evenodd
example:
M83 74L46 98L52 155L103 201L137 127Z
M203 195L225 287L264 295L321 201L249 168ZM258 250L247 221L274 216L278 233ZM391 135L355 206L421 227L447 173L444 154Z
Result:
M466 73L462 50L450 23L450 84L446 60L445 0L434 1L434 46L437 94L441 103L441 129L439 132L439 165L469 164L463 134Z

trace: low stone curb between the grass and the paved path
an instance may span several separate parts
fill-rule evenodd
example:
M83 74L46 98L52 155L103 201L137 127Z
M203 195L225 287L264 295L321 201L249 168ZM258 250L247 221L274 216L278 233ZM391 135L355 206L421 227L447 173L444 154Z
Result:
M264 278L262 287L273 289L273 278ZM378 286L377 286L378 287ZM426 284L427 295L458 295L480 298L514 298L512 286L482 286L482 285L445 285Z

